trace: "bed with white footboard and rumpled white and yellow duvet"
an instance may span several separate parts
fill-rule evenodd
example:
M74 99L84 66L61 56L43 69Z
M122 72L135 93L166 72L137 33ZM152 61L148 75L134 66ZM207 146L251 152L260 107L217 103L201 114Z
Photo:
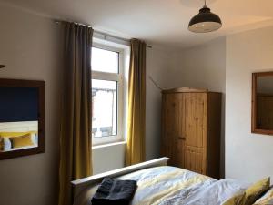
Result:
M248 183L233 179L212 179L186 169L167 166L167 158L155 159L123 169L72 182L74 205L91 205L102 179L133 179L137 190L131 205L217 205L236 193L244 192Z

